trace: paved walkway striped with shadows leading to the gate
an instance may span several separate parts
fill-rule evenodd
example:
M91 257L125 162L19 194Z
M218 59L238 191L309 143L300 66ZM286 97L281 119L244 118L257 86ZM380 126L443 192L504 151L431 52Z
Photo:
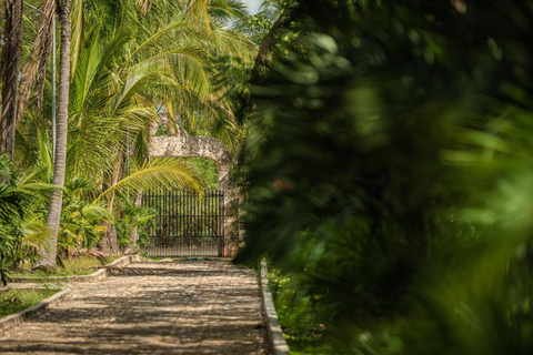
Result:
M253 272L140 263L0 334L0 354L268 354Z

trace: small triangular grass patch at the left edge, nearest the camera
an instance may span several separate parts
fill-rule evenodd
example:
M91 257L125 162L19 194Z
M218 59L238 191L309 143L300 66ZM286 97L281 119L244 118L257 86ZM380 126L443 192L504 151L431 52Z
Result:
M0 291L0 317L28 308L57 292L51 288Z

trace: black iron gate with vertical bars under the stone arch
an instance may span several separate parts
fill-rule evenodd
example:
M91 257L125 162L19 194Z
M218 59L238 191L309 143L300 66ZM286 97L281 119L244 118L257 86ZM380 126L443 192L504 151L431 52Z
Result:
M149 256L222 256L224 253L224 194L160 189L148 191L142 204L154 210L148 229Z

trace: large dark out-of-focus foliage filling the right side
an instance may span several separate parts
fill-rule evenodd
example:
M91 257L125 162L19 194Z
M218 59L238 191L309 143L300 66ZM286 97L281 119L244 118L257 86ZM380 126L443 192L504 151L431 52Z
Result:
M354 354L533 352L533 2L293 4L252 89L245 246Z

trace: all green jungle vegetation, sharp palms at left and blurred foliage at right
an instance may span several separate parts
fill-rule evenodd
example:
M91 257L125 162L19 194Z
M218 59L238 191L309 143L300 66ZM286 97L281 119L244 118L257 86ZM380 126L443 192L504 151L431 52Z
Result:
M148 156L180 124L238 154L235 262L268 258L295 352L533 353L532 0L28 3L0 6L3 283L201 189Z

